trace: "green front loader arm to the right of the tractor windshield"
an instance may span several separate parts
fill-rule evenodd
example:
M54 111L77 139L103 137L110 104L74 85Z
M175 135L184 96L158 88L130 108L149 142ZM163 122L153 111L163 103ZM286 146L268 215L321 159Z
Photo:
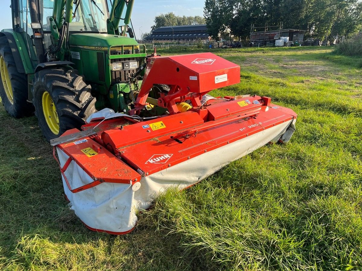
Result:
M107 21L108 34L111 35L126 35L127 26L131 22L131 14L133 9L134 0L114 0L112 4L109 20ZM123 10L126 8L125 18L121 18ZM119 22L123 20L125 28L123 33L119 33Z

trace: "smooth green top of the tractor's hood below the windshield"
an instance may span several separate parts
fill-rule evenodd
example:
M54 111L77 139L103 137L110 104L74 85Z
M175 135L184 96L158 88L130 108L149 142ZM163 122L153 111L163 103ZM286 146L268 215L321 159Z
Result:
M81 33L71 34L69 42L72 46L81 47L113 47L121 45L139 45L136 40L125 36L97 34L97 33Z

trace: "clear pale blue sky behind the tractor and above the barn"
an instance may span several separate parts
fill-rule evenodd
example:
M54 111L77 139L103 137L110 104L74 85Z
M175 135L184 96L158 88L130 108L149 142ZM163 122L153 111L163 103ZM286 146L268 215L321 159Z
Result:
M134 33L138 38L150 32L153 18L161 13L173 12L178 16L203 16L205 0L135 0L132 12ZM10 0L0 0L0 29L11 28Z

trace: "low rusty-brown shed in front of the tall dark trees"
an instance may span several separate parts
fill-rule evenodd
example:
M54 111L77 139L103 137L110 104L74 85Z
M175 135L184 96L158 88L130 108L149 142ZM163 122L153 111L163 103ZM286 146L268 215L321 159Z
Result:
M305 30L299 29L277 29L271 31L258 31L250 35L250 41L254 43L268 43L274 42L275 36L289 37L290 41L302 43L304 39Z

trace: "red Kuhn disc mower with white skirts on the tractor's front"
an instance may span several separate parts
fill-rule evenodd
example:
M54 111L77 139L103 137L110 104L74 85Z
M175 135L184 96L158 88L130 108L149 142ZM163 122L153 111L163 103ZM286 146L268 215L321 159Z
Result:
M76 215L94 231L127 233L160 192L187 188L268 142L289 141L292 110L268 97L207 95L239 82L240 67L211 53L150 57L129 115L105 109L82 131L51 141ZM168 91L149 98L160 84ZM167 110L141 117L155 107Z

